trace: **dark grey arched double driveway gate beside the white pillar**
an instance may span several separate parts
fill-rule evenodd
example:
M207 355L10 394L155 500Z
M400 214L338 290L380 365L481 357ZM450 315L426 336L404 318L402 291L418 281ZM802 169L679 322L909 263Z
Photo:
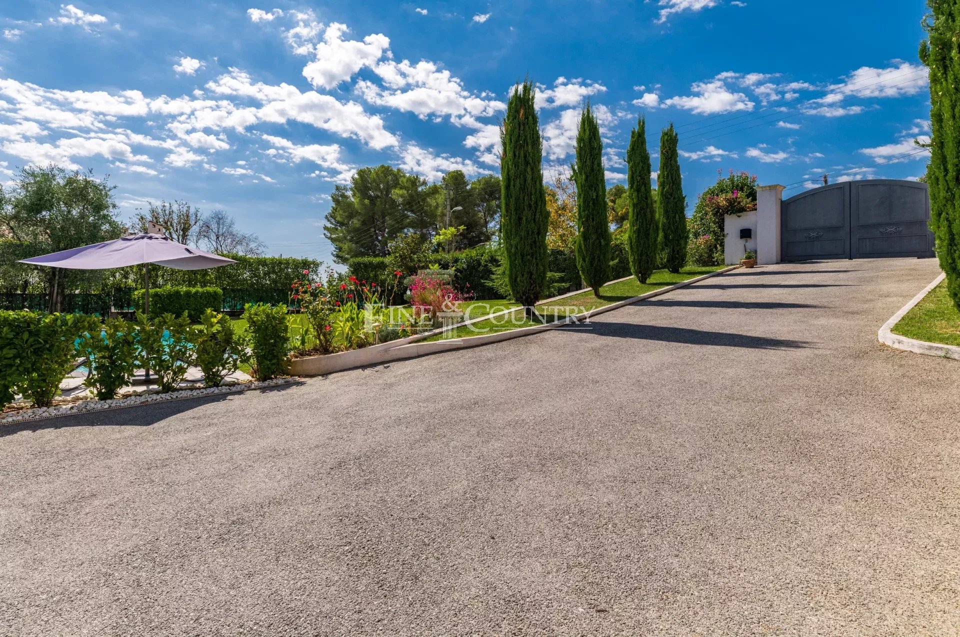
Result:
M933 256L926 184L834 183L783 201L783 261Z

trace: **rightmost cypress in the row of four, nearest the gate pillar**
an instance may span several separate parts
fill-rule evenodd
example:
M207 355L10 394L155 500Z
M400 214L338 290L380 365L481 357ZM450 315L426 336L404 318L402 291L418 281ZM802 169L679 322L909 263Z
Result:
M663 231L663 261L674 274L686 263L686 200L680 157L677 153L677 131L663 129L660 135L660 176L657 177L658 213Z

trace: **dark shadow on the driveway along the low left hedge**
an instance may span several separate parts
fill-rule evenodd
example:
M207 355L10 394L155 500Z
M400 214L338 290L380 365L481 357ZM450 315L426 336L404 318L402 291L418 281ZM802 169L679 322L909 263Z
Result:
M165 400L158 403L123 407L115 410L104 410L102 412L71 413L69 415L61 415L44 420L15 422L9 425L0 425L0 438L13 436L21 432L35 433L46 429L66 429L68 427L149 427L178 413L186 413L198 407L203 407L204 405L223 402L230 396L237 396L242 393L282 391L284 389L299 387L302 384L302 382L289 383L287 385L276 385L275 387L263 389L248 389L246 392L231 391L229 393L218 393L210 396Z

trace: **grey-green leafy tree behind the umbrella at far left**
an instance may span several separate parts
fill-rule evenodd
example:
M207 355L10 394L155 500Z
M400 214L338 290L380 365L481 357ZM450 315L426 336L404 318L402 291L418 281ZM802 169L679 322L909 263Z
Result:
M0 234L19 245L19 258L118 239L123 226L116 218L113 188L92 172L68 172L54 165L27 167L14 179L0 202ZM101 272L44 268L52 312L63 307L67 289Z

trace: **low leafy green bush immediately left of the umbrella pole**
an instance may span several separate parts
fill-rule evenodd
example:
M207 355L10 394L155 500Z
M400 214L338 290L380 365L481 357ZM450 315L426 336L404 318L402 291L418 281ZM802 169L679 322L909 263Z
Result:
M81 336L77 348L90 370L84 385L93 389L99 400L111 400L118 390L130 385L140 353L132 321L107 319L103 329L92 329Z

